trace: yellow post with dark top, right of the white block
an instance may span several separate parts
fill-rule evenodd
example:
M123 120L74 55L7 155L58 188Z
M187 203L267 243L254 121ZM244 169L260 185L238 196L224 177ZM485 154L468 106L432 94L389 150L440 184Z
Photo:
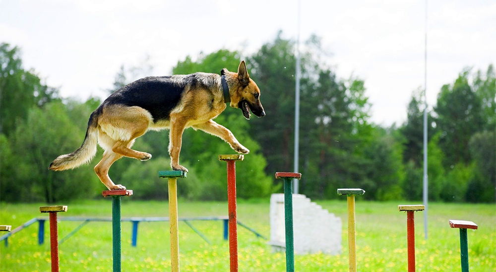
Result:
M355 195L363 195L365 190L358 188L338 189L338 195L346 195L348 201L348 254L349 271L357 271L357 242L355 228Z

